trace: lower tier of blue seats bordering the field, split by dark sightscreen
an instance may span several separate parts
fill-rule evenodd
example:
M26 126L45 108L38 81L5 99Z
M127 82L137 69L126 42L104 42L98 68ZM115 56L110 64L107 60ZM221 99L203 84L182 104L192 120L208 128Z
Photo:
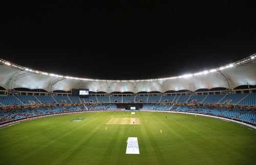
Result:
M117 109L116 104L100 104L100 105L77 105L77 106L53 106L53 107L39 107L27 109L13 109L13 110L0 110L0 123L24 119L27 117L55 114L63 112L76 112L76 111L93 111L93 110L111 110ZM225 108L214 106L188 106L188 105L156 105L156 104L143 104L142 109L147 110L164 110L164 111L180 111L203 113L209 115L216 115L227 117L230 119L240 120L256 124L256 111L237 108Z

